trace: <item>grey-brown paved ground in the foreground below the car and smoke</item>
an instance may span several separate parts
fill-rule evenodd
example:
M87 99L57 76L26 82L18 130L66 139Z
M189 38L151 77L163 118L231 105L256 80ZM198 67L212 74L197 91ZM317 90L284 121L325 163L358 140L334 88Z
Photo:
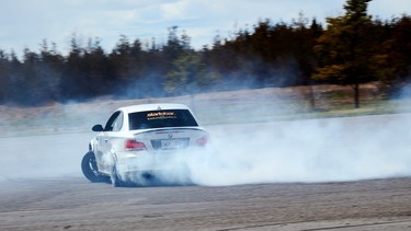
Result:
M411 178L113 188L9 181L0 230L411 230Z

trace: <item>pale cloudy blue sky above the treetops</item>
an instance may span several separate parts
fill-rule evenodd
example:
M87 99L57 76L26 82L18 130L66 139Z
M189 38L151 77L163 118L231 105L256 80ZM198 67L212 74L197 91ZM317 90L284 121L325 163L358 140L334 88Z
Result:
M168 27L179 26L192 46L212 44L218 34L252 28L259 19L289 23L302 12L323 22L344 13L345 0L0 0L0 49L38 51L43 39L65 54L73 33L99 37L111 51L121 35L130 41L167 41ZM368 13L383 20L411 14L411 0L373 0Z

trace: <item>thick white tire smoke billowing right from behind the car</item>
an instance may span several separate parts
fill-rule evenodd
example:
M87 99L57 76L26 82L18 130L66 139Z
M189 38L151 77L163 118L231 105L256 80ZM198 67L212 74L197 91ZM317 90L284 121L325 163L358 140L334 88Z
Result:
M410 117L214 126L209 130L217 152L192 153L175 162L184 162L193 183L207 186L410 176ZM179 174L168 172L162 180L185 177Z

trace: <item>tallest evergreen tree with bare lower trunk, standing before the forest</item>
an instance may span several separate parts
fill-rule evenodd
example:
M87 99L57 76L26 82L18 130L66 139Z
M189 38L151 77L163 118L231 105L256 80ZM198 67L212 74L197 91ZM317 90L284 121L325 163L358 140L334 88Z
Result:
M328 28L318 38L315 50L319 58L315 80L327 80L354 89L354 105L359 107L359 84L373 79L372 24L367 15L370 0L347 0L345 14L328 18Z

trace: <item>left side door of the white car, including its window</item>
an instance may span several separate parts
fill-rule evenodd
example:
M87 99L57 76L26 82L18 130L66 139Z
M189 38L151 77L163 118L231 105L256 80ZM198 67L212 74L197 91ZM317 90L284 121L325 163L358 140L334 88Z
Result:
M112 141L122 128L122 124L123 113L117 111L110 116L103 132L99 134L96 137L99 152L95 153L95 158L98 159L98 166L101 172L110 173L113 168L114 160L111 153Z

